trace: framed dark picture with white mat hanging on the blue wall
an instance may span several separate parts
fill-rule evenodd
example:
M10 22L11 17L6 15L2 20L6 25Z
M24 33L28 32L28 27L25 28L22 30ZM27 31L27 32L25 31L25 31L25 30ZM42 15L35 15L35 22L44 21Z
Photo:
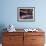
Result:
M35 7L18 7L17 20L22 22L35 21Z

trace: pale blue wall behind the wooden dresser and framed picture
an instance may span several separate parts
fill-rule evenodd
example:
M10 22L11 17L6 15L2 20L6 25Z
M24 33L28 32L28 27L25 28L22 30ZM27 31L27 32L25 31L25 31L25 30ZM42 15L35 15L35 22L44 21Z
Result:
M46 0L0 0L0 29L13 24L16 28L40 27L46 32L45 4ZM17 21L17 7L25 6L35 7L35 22Z

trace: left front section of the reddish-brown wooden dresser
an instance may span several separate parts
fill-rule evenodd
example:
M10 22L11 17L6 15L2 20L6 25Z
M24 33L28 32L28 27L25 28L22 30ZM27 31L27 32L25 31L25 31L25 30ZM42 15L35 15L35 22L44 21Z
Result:
M5 35L3 37L3 46L23 46L23 34Z

